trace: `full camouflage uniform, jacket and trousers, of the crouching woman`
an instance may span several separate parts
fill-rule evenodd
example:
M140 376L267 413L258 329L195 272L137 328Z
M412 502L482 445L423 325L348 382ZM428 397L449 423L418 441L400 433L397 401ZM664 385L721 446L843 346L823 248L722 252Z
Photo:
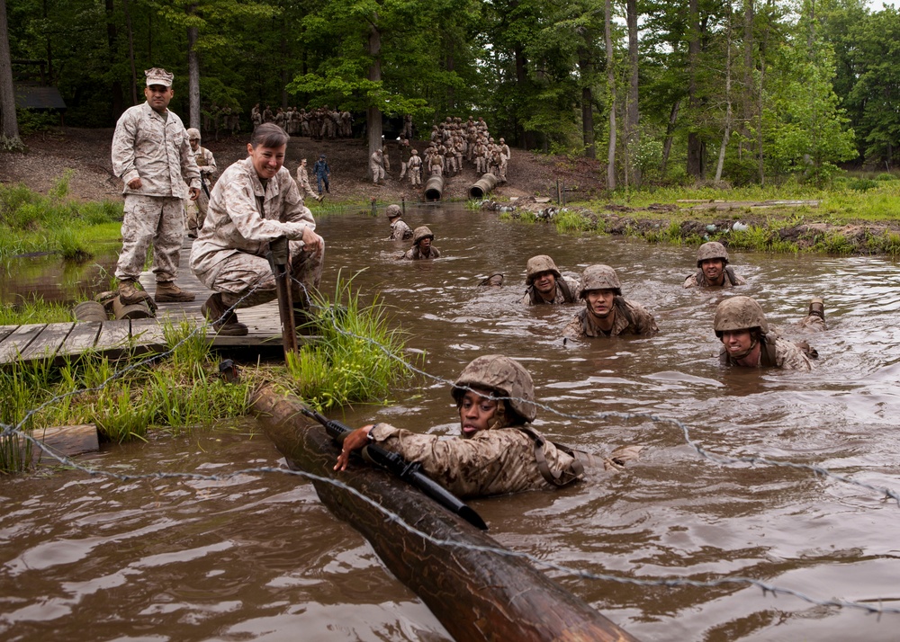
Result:
M304 307L306 292L318 289L325 258L324 241L314 251L303 249L303 230L316 229L312 213L303 207L300 190L286 167L266 186L252 160L246 158L222 173L212 190L210 210L193 243L191 268L210 290L222 293L229 307L248 308L277 297L275 275L266 259L269 242L291 239L291 290L295 308ZM250 290L253 290L250 293Z

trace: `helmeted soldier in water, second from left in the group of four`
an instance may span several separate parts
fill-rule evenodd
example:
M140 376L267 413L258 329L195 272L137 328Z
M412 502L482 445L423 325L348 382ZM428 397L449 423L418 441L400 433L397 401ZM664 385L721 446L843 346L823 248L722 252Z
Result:
M656 334L660 330L650 312L622 297L618 275L608 265L589 265L581 273L578 296L584 300L584 309L563 328L566 338Z

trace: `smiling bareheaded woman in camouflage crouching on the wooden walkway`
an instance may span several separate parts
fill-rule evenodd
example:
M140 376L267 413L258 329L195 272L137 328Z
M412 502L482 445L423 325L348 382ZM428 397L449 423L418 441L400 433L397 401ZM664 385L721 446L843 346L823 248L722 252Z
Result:
M225 170L213 188L209 216L193 243L193 273L214 292L201 311L219 334L247 334L247 325L238 322L234 309L277 297L266 252L282 237L290 240L295 320L298 325L310 320L311 293L319 289L325 242L316 234L316 221L284 167L288 138L272 123L254 130L247 158Z

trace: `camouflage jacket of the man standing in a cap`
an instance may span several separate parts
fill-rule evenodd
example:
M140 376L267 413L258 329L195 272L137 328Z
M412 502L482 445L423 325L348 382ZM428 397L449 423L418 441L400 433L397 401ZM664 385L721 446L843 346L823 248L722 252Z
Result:
M163 118L148 105L130 107L112 135L112 172L125 183L123 194L187 198L184 183L200 189L200 171L181 119ZM139 178L139 190L128 183Z

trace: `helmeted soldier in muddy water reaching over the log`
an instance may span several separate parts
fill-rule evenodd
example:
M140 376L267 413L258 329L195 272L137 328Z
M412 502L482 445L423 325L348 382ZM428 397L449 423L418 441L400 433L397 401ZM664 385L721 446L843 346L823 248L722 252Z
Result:
M594 458L548 441L530 425L535 420L535 384L509 357L478 357L450 390L459 412L458 437L420 434L390 424L369 424L344 440L335 470L346 470L350 453L369 443L419 462L422 470L461 497L504 495L568 486L584 477ZM604 459L605 468L623 468L640 448L626 447Z

